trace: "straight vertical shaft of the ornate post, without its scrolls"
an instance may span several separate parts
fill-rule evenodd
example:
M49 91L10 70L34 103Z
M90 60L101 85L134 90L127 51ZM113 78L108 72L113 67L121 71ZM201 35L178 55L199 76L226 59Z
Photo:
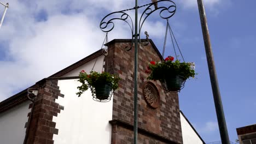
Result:
M134 50L134 124L133 124L133 141L134 144L137 144L137 135L138 135L138 93L137 93L137 69L138 69L138 2L135 0L135 50Z

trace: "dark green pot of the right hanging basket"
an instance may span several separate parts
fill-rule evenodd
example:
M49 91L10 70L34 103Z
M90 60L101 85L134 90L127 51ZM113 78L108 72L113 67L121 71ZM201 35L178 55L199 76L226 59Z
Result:
M168 91L177 92L181 90L181 87L183 85L183 77L180 75L167 77L165 79L165 82L166 82Z

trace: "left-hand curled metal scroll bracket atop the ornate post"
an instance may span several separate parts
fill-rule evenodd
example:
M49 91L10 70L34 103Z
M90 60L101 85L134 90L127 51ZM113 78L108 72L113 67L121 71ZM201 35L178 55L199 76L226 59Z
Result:
M133 22L132 22L132 19L131 19L130 15L128 15L124 11L126 11L126 10L116 11L116 12L113 12L113 13L110 13L110 14L106 15L101 20L100 28L101 28L101 31L103 31L103 32L110 32L110 31L112 31L112 29L115 26L114 22L113 22L114 20L125 21L131 29L131 35L132 35L131 47L132 47L132 45L133 45ZM113 17L113 15L118 15L117 17L119 17L119 18L114 17L114 18L107 19L108 17ZM131 48L127 48L127 46L125 47L125 49L127 51L131 50Z

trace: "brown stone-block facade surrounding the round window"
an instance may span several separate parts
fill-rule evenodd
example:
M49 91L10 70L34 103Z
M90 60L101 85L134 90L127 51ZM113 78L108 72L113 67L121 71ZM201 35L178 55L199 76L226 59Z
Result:
M113 94L113 120L120 121L112 124L113 144L132 143L133 140L133 130L121 124L133 125L134 47L126 51L126 46L131 46L127 40L110 41L106 58L107 71L121 77L119 88ZM148 63L161 61L162 57L151 40L147 46L138 46L138 128L168 140L138 133L138 143L183 143L178 94L166 93L159 81L150 81L159 91L160 106L152 109L144 100L142 88L148 82L145 73Z

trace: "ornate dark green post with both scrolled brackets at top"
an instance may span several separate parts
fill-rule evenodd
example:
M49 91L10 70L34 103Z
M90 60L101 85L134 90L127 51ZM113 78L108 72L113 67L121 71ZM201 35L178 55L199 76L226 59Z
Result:
M170 6L167 7L157 7L157 3L160 2L166 2L166 4L168 3ZM138 9L142 8L142 7L147 7L140 19L139 19L139 25L138 25ZM134 137L133 137L133 143L136 144L137 143L137 129L138 129L138 122L137 122L137 69L138 69L138 43L141 43L141 39L140 39L140 33L141 33L141 28L143 26L144 21L147 19L147 17L154 13L154 11L159 10L160 9L160 16L162 17L162 19L169 19L170 17L172 17L176 11L176 4L170 0L161 0L161 1L156 1L150 4L146 4L146 5L142 5L142 6L138 6L138 2L137 0L135 1L135 7L132 9L126 9L126 10L121 10L121 11L115 11L113 13L110 13L108 15L106 15L101 23L100 23L100 28L103 32L110 32L112 31L112 29L114 28L114 20L122 20L125 21L130 29L131 29L131 33L132 33L132 45L133 45L133 41L135 43L135 58L134 58L134 124L133 124L133 131L134 131ZM131 19L131 17L125 13L125 11L128 10L135 10L135 28L133 28L133 21ZM165 16L164 16L165 13ZM166 16L166 14L168 14ZM119 17L113 17L113 15L118 15ZM113 18L111 18L113 17ZM135 31L134 31L135 30ZM134 38L134 40L133 40ZM141 43L143 45L147 45L148 43ZM130 50L130 49L129 49Z

